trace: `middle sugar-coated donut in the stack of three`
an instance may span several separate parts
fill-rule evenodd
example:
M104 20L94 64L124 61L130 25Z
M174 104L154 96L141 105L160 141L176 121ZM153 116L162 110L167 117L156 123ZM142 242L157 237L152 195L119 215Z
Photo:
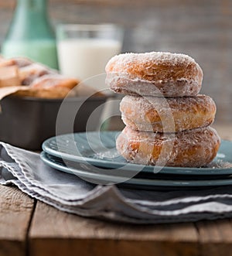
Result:
M176 132L213 123L216 104L210 96L140 97L126 95L121 118L132 130Z

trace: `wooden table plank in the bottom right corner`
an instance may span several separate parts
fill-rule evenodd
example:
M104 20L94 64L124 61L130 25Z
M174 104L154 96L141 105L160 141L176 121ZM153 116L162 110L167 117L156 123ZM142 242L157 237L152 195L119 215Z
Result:
M200 221L196 227L199 231L201 256L232 254L230 220Z

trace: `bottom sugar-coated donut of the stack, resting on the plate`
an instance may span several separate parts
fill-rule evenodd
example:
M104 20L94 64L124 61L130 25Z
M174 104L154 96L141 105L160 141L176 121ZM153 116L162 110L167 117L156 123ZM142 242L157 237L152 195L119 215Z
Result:
M116 140L118 152L128 162L152 166L206 166L219 147L220 137L210 126L166 134L125 127Z

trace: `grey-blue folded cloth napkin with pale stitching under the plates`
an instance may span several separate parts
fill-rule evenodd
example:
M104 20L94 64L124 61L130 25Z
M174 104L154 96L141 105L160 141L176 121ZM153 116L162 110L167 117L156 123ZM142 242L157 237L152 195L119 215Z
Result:
M232 186L181 191L118 189L87 183L46 166L39 154L0 143L0 183L68 213L135 224L232 216Z

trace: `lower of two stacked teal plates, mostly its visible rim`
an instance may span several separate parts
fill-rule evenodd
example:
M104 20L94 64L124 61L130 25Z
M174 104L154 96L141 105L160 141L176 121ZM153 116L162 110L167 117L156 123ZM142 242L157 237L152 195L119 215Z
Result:
M118 172L114 172L114 175L108 174L108 172L97 173L94 169L85 168L84 165L80 164L80 168L67 167L62 159L57 158L53 155L49 155L46 152L42 152L40 155L43 162L46 165L53 167L53 169L60 170L62 172L67 172L76 176L79 176L82 179L87 180L88 182L95 184L112 184L112 183L121 183L121 186L128 185L141 189L155 189L160 187L165 187L166 189L170 188L179 188L179 187L209 187L209 186L227 186L232 184L232 177L227 176L227 179L142 179L133 177L131 179L125 179L124 176L118 176ZM77 166L76 166L77 167ZM107 169L106 169L107 171ZM159 176L160 177L160 176ZM180 178L180 177L179 177ZM119 184L120 185L120 184Z

